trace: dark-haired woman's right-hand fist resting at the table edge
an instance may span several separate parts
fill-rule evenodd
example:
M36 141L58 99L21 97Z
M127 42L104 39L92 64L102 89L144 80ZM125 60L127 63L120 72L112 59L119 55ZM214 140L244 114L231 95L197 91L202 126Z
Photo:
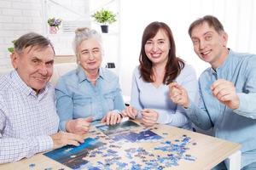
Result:
M158 112L152 109L143 109L142 111L142 122L145 127L152 127L158 120Z

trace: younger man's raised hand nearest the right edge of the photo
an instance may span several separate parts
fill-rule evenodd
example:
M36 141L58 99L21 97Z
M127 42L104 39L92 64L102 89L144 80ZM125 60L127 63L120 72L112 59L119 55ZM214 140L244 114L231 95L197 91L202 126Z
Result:
M240 100L236 94L236 88L232 82L224 79L218 79L212 83L212 94L221 103L227 105L230 109L237 109L240 105Z

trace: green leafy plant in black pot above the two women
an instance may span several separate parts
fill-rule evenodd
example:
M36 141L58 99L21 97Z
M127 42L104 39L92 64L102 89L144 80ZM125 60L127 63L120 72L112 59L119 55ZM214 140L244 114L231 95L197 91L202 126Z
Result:
M103 8L96 11L96 13L92 14L91 17L94 18L96 22L102 24L102 33L108 33L108 25L111 25L116 21L116 14Z

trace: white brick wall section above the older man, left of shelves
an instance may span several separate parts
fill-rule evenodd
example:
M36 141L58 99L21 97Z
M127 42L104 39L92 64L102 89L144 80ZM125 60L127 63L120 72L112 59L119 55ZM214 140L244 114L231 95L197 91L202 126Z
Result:
M0 68L11 68L12 41L28 31L44 32L41 0L0 0Z

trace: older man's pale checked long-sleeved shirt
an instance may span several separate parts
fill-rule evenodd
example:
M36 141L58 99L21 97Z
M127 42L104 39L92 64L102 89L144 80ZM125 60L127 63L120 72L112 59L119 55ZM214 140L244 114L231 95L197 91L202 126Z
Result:
M16 71L0 78L0 163L53 148L49 135L59 125L54 90L47 84L37 95Z

